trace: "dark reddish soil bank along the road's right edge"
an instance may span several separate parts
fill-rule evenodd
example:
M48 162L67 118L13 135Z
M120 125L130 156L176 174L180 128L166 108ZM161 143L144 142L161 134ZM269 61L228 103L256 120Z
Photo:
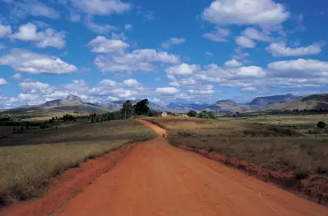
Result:
M306 197L307 199L315 201L318 204L328 206L327 177L322 177L319 175L302 175L293 171L273 171L262 168L261 165L248 163L247 161L229 159L227 156L209 150L188 147L186 145L177 145L177 147L190 152L196 152L207 157L208 159L219 161L225 165L243 170L252 177L256 177L257 179L261 179L265 182L274 183L285 190Z

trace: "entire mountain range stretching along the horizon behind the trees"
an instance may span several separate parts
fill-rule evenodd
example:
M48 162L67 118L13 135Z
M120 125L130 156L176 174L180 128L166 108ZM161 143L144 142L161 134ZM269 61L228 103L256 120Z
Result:
M35 109L54 109L62 111L117 111L121 109L126 100L117 100L106 103L90 103L84 102L78 96L69 95L67 98L50 100L42 105L22 106L14 109L6 109L0 111L1 114L17 114L24 113ZM131 100L133 104L139 102L140 99ZM167 106L158 105L149 101L149 107L154 111L170 111L174 113L185 113L190 110L195 111L213 111L215 113L240 113L252 111L273 111L286 109L328 109L328 94L314 94L311 96L300 97L292 94L266 96L254 98L249 103L240 104L233 100L219 100L214 105L197 104L197 103L181 103L172 102Z

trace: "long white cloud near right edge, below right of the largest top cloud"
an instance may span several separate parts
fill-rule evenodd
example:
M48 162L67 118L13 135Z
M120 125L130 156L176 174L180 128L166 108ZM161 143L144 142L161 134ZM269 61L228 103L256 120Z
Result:
M287 57L287 56L302 56L302 55L318 55L322 51L322 45L315 43L310 46L302 46L297 48L286 47L284 42L272 43L266 50L274 57Z

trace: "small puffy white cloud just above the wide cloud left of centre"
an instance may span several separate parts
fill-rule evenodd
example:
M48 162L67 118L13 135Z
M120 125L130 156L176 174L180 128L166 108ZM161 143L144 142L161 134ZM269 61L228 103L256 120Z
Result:
M92 53L115 53L129 47L120 39L106 39L104 36L97 36L88 45L92 47Z

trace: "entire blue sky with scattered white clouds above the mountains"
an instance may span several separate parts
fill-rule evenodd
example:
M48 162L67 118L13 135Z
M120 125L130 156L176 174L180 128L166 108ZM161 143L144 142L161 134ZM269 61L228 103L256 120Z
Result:
M0 108L327 92L328 3L0 0Z

